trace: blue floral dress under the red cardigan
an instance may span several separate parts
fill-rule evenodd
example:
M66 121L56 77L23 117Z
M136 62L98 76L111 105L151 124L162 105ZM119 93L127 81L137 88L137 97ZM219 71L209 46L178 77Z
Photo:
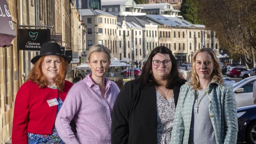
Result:
M50 87L54 89L55 87ZM57 88L56 88L57 89ZM58 98L59 105L57 107L56 116L63 105L63 101ZM28 144L65 144L59 137L55 125L52 129L51 135L38 135L34 133L28 133Z

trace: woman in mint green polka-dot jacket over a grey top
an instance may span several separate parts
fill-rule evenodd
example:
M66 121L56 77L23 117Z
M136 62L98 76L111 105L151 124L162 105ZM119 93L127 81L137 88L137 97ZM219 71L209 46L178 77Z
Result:
M215 52L199 49L192 63L190 80L180 88L171 144L236 144L236 100Z

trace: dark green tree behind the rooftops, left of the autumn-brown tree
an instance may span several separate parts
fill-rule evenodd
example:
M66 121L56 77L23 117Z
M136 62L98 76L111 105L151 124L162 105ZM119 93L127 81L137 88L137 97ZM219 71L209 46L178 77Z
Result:
M195 0L183 0L180 7L182 17L192 24L202 24L198 17L198 3Z

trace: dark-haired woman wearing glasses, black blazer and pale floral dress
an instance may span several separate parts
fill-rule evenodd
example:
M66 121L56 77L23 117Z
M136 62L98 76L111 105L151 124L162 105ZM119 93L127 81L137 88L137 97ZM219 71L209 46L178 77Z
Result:
M139 78L128 81L112 112L112 144L168 144L180 87L176 59L158 46L150 53Z

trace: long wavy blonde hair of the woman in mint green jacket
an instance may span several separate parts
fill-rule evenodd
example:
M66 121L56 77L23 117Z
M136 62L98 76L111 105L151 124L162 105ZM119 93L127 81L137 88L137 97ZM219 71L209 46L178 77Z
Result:
M200 85L200 81L199 81L199 76L196 72L196 56L198 53L200 52L207 52L208 54L211 55L211 58L213 59L213 63L214 63L214 67L215 69L213 69L213 72L211 74L211 81L212 82L217 82L221 85L223 85L223 76L221 73L221 65L219 63L219 60L217 59L217 56L215 54L215 52L211 49L211 48L201 48L199 50L197 50L195 52L195 55L193 55L192 57L192 69L189 72L189 86L192 87L192 89L197 90L200 89L201 85Z

